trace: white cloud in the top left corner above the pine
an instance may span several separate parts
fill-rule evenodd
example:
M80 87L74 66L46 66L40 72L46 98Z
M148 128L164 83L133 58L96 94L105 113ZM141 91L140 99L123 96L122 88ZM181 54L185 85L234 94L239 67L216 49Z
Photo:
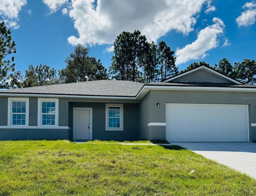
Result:
M0 20L6 23L6 26L17 29L19 27L19 12L27 0L0 0Z

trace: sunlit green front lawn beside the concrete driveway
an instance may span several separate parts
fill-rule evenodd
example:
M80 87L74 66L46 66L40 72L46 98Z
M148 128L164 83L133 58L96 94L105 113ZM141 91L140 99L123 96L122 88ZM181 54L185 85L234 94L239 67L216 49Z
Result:
M256 180L178 146L0 141L0 176L0 195L256 195Z

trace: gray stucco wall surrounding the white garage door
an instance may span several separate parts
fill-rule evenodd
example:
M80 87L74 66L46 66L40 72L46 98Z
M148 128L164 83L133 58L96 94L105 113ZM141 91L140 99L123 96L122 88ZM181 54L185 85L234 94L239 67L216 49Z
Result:
M253 92L151 90L149 96L150 98L146 98L148 105L154 106L160 103L159 108L151 107L148 111L151 114L150 122L156 123L166 122L166 103L248 105L249 139L250 141L256 140L256 127L251 126L251 123L256 123L256 94ZM142 133L145 130L151 132L146 139L165 138L165 126L150 126L151 129L145 129L148 122L142 119L140 123Z

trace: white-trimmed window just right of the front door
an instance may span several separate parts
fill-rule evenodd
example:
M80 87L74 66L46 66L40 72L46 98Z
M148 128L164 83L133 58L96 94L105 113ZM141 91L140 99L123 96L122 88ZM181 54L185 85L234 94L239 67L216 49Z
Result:
M106 104L106 131L123 131L123 104Z

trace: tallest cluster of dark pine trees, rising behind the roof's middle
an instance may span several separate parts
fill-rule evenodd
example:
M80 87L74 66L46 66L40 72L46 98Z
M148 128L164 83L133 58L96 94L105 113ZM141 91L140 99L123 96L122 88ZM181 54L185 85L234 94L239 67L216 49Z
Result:
M178 73L174 51L164 41L149 43L140 31L122 32L114 41L112 79L155 82Z

